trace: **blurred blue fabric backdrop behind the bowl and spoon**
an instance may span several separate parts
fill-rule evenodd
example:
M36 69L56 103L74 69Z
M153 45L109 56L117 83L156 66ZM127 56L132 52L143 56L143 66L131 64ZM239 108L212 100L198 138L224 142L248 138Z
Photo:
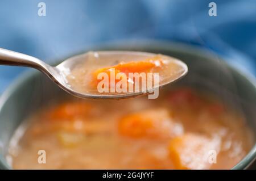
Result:
M38 16L38 3L46 16ZM209 2L217 16L209 16ZM0 47L49 62L118 39L195 44L256 74L255 0L1 0ZM26 68L0 66L0 92Z

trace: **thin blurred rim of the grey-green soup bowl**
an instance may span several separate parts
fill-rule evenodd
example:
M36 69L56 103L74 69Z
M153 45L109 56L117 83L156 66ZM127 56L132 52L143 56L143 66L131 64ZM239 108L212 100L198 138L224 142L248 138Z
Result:
M177 43L177 42L170 42L170 41L164 41L164 40L151 40L151 39L138 39L136 41L134 40L117 40L117 41L109 41L107 43L101 43L100 45L93 45L91 49L106 49L106 48L132 48L132 49L154 49L154 50L166 50L166 51L175 51L180 53L188 53L188 54L196 54L196 56L207 58L212 60L214 57L214 52L211 52L209 49L204 47L199 47L197 45L188 45L184 43ZM88 49L84 49L80 51L80 53L75 53L74 55L81 54L86 52ZM243 69L238 69L237 67L233 66L229 62L226 62L225 60L228 59L228 57L224 57L222 59L221 56L218 55L218 59L221 60L221 62L227 66L229 69L240 75L243 79L247 79L247 81L254 87L254 90L256 91L256 78L253 74L250 72L246 72ZM60 59L59 59L60 60ZM52 62L58 62L58 61L52 61ZM23 73L19 75L18 78L15 78L13 82L10 83L9 86L7 86L7 89L3 91L2 95L0 95L0 113L2 110L2 107L5 105L7 100L10 98L11 95L16 91L16 89L23 85L23 82L26 82L27 79L36 76L37 74L40 74L39 71L36 70L26 70ZM0 145L1 146L1 145ZM231 170L237 170L237 169L246 169L256 160L256 142L254 146L250 149L250 151L241 159L240 162L238 162L235 166L231 168ZM5 155L0 154L0 169L13 169L9 164L6 162Z

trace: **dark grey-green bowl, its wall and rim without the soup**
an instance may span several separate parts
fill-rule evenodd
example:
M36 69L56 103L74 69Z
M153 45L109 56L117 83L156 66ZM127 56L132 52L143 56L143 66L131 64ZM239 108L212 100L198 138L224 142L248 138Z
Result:
M189 73L175 83L204 89L240 110L256 135L256 81L248 73L233 68L216 54L184 44L146 41L112 43L94 50L139 50L162 53L183 60ZM85 50L86 52L86 50ZM15 129L30 113L55 99L64 99L66 92L36 70L24 73L3 93L0 99L0 169L11 169L5 155ZM256 145L233 169L246 169L256 157Z

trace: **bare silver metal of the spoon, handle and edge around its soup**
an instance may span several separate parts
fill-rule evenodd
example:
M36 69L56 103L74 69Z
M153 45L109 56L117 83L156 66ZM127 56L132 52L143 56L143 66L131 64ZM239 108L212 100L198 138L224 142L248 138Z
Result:
M155 89L159 89L159 87L170 84L177 79L180 79L185 74L187 74L188 68L184 62L177 60L176 58L172 58L175 62L181 65L181 73L175 79L168 79L164 83L160 83L159 87L154 87L152 90L147 90L146 92L127 92L125 94L96 94L96 92L84 92L77 91L73 89L67 82L67 71L71 71L77 64L81 62L88 61L91 56L94 57L109 57L113 56L113 58L119 57L129 57L131 60L138 58L146 58L156 56L154 53L146 53L146 52L132 52L132 51L99 51L99 52L88 52L84 54L80 54L78 56L73 56L68 58L67 60L61 62L61 64L57 66L51 66L46 64L45 62L39 60L38 58L28 56L27 54L22 54L18 52L13 52L11 50L6 50L0 48L0 65L12 65L12 66L27 66L30 68L38 69L47 75L53 82L55 82L61 89L67 91L69 94L80 98L113 98L113 99L121 99L127 98L131 96L137 96L141 94L148 94L148 92L152 92ZM166 56L167 57L167 56ZM127 60L129 60L129 58ZM113 59L114 60L114 59ZM104 61L102 61L104 62ZM106 62L106 61L105 61Z

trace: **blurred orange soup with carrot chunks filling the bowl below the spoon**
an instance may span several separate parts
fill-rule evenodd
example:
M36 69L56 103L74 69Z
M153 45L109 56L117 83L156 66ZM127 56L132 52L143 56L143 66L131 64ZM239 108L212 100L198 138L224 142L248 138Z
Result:
M180 87L158 99L51 104L16 131L7 160L14 169L230 169L252 143L238 111Z

